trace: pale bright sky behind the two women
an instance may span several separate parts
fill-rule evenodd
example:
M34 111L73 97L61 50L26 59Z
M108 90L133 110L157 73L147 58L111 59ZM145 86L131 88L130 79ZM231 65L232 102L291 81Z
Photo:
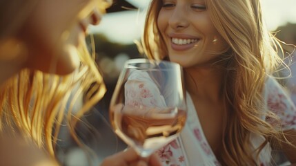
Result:
M139 39L150 0L126 1L139 10L105 15L99 26L90 26L90 33L103 33L110 41L123 44L131 44ZM262 10L269 30L275 30L288 22L296 24L296 0L262 0Z

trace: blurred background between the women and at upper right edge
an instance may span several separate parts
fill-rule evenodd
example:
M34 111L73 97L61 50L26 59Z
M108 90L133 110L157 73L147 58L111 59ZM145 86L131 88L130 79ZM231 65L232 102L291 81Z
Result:
M149 2L150 0L114 0L101 24L89 27L90 36L86 41L90 44L90 37L95 41L96 60L108 91L77 127L80 138L95 151L95 157L86 158L85 152L70 139L65 127L61 130L59 141L59 158L63 165L98 165L101 158L126 148L110 127L108 105L124 62L127 59L144 57L138 48ZM296 1L262 0L262 8L268 29L277 32L277 37L283 42L296 44ZM285 48L291 52L294 47ZM291 68L296 72L295 65ZM296 80L291 79L286 84L294 87L294 82ZM296 97L294 98L296 101Z

